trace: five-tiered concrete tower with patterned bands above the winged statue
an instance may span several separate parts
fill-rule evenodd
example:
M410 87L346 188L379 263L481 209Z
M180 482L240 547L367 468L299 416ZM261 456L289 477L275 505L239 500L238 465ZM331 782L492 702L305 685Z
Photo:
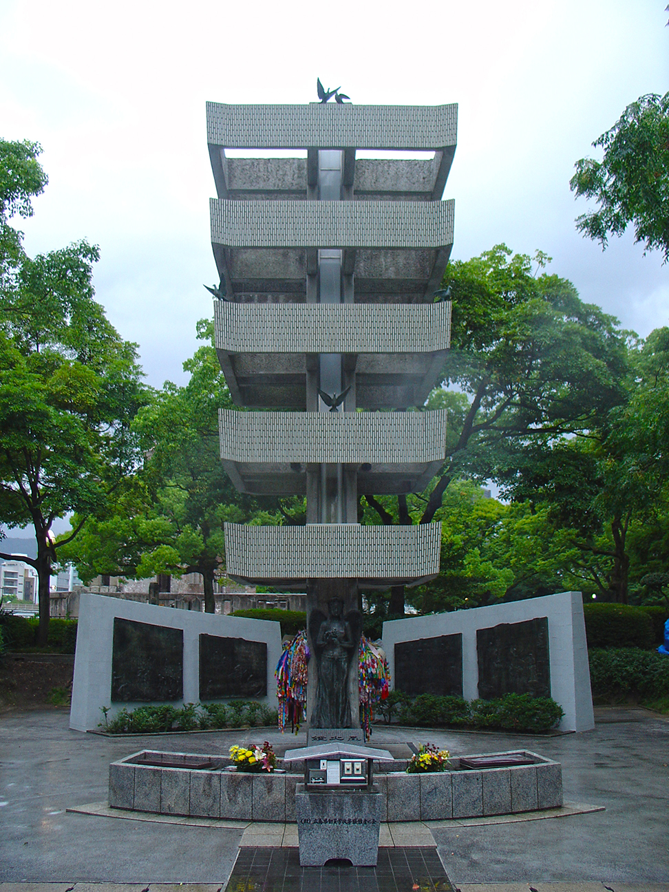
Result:
M227 287L216 347L233 400L266 410L221 411L221 457L240 491L307 497L305 526L226 524L227 574L306 587L309 610L334 597L354 609L359 588L439 572L441 524L360 526L358 506L359 494L423 491L444 459L445 412L406 410L439 383L449 346L450 304L433 293L453 241L441 199L457 111L207 104L211 244ZM434 157L357 157L379 149ZM319 390L347 393L331 411ZM357 685L351 671L351 728Z

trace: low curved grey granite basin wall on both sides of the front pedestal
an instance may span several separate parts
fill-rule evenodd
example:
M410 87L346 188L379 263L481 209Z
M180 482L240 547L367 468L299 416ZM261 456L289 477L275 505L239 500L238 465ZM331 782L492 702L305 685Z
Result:
M382 821L444 821L562 805L562 766L536 753L522 752L533 764L427 774L376 771L375 784L383 794ZM143 758L152 762L169 759L171 764L181 759L184 765L136 764ZM213 770L189 767L188 762L193 764L195 758L213 759L218 765ZM457 769L459 759L452 761ZM303 773L227 772L225 764L227 760L219 756L142 750L111 763L109 804L137 812L231 821L296 820L295 786L303 780ZM355 793L351 791L351 795Z

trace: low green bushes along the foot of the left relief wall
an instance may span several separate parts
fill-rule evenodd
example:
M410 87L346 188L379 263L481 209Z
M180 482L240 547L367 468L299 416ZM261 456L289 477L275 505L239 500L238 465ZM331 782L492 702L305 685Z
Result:
M255 700L230 700L229 703L186 703L180 709L169 704L121 709L112 719L103 707L103 722L98 724L108 734L155 734L161 731L208 731L218 728L259 727L277 724L277 710Z

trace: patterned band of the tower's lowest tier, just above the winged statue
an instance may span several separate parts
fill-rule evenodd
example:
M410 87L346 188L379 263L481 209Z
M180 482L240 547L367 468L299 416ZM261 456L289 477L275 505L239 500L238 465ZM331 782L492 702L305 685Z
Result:
M244 579L420 579L439 573L442 524L225 524L226 572Z

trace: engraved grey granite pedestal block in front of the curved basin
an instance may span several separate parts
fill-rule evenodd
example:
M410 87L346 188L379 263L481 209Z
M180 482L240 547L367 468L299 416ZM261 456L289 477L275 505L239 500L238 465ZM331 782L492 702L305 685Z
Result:
M327 789L295 792L300 863L322 867L331 858L348 858L354 867L374 867L378 857L381 791Z

